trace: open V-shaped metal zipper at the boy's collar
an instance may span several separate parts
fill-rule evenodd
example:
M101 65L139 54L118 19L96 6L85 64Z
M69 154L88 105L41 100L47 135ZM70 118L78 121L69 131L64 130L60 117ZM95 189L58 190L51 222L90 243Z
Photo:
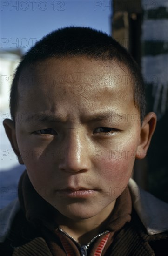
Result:
M90 240L89 243L87 243L87 245L81 245L80 243L78 243L78 241L76 241L74 239L74 237L70 236L67 232L65 232L63 229L61 228L58 228L58 230L63 233L65 236L69 237L75 244L76 246L78 247L80 253L81 253L81 256L87 256L87 249L89 248L90 244L94 242L94 240L102 235L105 235L107 233L109 233L110 231L109 230L106 230L96 236L94 236L94 238L92 238L92 240Z

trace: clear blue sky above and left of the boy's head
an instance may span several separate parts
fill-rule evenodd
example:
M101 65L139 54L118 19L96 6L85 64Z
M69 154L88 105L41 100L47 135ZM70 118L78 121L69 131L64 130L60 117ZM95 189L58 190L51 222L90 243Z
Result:
M65 26L93 27L111 34L111 0L1 0L2 50L27 51L36 40Z

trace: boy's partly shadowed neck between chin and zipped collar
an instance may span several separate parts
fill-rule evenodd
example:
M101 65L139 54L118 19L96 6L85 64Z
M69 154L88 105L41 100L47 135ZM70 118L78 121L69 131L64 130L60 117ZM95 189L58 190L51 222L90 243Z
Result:
M73 220L59 215L59 227L72 236L78 243L87 244L94 236L106 230L110 214L114 209L115 201L109 204L99 214L88 219Z

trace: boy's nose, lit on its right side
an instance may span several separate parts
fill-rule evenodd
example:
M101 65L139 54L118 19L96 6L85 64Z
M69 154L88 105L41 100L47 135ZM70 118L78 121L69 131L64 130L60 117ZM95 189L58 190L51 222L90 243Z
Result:
M79 129L71 129L64 141L64 155L59 169L66 172L87 171L90 168L89 145Z

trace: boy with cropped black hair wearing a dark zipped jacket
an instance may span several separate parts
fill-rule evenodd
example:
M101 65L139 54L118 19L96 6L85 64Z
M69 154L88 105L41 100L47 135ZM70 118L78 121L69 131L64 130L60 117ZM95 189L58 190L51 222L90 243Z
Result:
M156 115L123 47L90 28L48 34L20 62L10 108L27 170L2 210L4 255L166 254L167 205L129 181Z

